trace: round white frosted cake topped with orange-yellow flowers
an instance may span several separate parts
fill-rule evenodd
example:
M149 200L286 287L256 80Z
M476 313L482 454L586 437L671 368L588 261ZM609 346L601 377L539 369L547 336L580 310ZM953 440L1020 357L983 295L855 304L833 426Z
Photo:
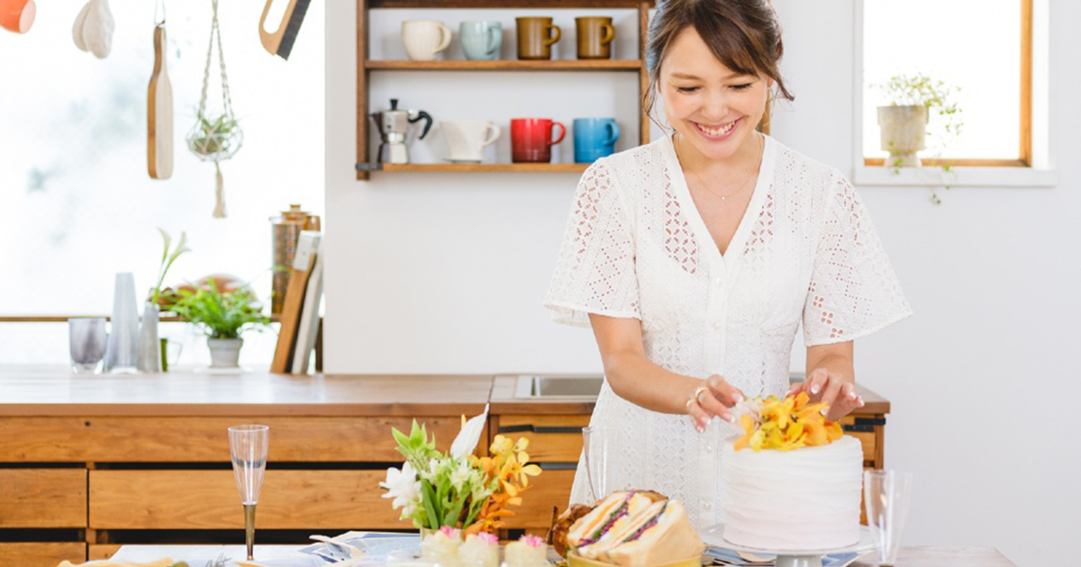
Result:
M750 402L721 454L724 539L769 551L859 541L863 448L806 394ZM739 408L737 408L737 411Z

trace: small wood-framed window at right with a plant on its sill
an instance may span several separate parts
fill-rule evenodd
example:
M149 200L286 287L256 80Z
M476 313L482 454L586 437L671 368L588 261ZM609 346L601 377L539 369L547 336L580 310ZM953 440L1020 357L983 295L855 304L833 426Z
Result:
M916 72L961 89L956 102L962 133L949 140L940 159L923 152L924 165L1033 165L1033 0L862 4L865 165L882 165L888 156L876 108L889 103L873 85ZM942 133L943 125L932 113L929 134Z

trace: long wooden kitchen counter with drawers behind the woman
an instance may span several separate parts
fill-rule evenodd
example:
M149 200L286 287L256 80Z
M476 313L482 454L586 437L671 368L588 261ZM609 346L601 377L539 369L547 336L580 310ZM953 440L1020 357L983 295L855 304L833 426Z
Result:
M566 505L596 400L521 399L517 376L71 375L0 368L0 567L102 558L125 543L210 543L243 527L226 430L270 427L257 527L281 543L347 529L410 529L378 484L414 418L446 450L491 403L497 434L530 440L543 474L508 528L544 534ZM522 382L523 384L525 382ZM889 402L842 420L882 467ZM298 536L297 534L303 534ZM25 538L25 539L24 539Z

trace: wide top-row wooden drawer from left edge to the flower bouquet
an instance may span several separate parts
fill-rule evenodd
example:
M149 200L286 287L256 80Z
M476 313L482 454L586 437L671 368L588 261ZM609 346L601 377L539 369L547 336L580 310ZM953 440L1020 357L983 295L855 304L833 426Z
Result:
M425 418L450 448L461 417ZM29 417L0 418L0 462L226 462L229 426L270 426L268 459L401 462L390 428L404 417Z

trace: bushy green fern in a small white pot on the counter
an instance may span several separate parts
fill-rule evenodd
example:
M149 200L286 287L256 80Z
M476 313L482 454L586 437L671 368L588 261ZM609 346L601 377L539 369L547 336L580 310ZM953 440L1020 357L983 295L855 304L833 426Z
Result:
M250 287L221 292L213 279L208 284L195 292L182 288L181 299L172 310L202 327L210 347L211 368L236 368L244 345L240 335L250 328L262 330L270 324L270 318L263 314L263 306Z

